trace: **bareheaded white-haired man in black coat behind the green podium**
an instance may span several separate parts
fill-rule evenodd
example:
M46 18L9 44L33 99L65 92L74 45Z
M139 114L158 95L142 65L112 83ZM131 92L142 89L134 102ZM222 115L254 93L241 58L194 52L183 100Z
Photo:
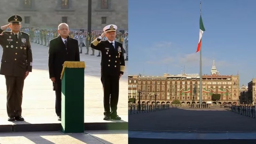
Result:
M61 23L58 26L59 36L49 44L49 74L55 91L55 112L61 121L61 71L65 61L80 61L78 41L69 37L69 26Z

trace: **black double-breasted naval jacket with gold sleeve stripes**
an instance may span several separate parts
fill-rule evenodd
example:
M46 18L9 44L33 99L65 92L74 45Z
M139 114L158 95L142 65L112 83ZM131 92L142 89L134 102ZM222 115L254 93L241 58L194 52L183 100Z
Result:
M108 40L98 38L91 42L90 47L101 51L101 74L103 76L117 76L123 74L125 68L124 49L120 42L114 46Z

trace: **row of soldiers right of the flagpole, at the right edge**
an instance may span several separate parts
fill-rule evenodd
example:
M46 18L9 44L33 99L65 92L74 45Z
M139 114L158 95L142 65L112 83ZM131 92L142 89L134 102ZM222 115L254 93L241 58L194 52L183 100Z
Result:
M234 113L245 115L247 117L255 118L256 106L253 105L225 105L228 110Z

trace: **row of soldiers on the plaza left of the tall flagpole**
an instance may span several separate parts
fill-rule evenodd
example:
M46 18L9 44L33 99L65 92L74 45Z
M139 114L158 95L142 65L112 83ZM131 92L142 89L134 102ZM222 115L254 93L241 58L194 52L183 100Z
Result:
M139 105L130 105L130 114L135 114L136 112L136 107L137 107L137 114L138 113L148 113L152 111L160 111L160 110L167 110L170 109L169 104L162 104L162 105L150 105L150 104L142 104L140 107Z

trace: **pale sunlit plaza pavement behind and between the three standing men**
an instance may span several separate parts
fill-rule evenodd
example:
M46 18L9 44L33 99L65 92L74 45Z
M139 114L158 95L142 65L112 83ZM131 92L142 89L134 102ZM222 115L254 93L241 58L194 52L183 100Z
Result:
M83 47L84 48L84 47ZM0 75L0 125L26 123L60 123L55 113L55 92L48 72L48 47L32 43L33 70L25 79L23 89L22 116L24 122L7 121L5 77ZM92 53L90 48L90 54ZM95 51L98 54L98 51ZM2 50L0 51L2 56ZM0 58L1 58L0 56ZM100 80L101 57L80 54L85 61L85 122L106 122L103 120L103 91ZM128 121L128 61L120 79L117 113L123 122Z

